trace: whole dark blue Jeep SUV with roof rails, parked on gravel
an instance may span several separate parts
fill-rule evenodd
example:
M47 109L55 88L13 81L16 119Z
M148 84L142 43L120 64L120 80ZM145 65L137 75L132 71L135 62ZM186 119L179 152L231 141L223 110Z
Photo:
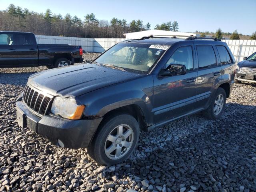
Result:
M144 37L88 64L33 74L16 102L20 126L99 164L127 159L140 130L202 111L219 118L234 84L234 56L216 38Z

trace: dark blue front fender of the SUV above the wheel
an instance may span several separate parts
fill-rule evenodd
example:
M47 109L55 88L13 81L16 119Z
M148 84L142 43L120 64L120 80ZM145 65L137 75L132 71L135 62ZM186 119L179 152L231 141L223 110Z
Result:
M100 118L106 113L123 106L136 105L144 114L146 122L152 123L153 82L152 76L142 80L114 84L101 88L77 98L79 103L86 105L86 118Z

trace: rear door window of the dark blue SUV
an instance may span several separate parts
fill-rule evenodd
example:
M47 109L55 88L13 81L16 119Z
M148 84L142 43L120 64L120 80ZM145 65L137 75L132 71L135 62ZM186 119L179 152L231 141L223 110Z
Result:
M216 66L216 56L211 45L197 45L199 68Z

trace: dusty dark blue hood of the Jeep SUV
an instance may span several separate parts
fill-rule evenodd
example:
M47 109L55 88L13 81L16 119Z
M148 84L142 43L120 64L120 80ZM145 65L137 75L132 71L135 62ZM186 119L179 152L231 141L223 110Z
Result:
M28 83L49 94L75 97L138 76L96 64L79 64L33 74Z

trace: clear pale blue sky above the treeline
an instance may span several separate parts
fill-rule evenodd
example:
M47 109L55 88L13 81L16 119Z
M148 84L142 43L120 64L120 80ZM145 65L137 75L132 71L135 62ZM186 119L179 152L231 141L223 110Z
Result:
M34 12L62 16L69 13L84 20L86 14L94 13L98 20L117 17L142 20L145 25L177 21L180 32L210 31L233 32L251 35L256 31L256 0L0 0L0 10L9 4L28 8Z

